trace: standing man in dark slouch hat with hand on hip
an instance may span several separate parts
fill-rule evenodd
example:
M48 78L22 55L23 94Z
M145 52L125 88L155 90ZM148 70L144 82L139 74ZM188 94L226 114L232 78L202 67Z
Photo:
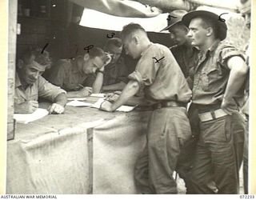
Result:
M238 194L245 131L238 111L248 66L241 52L222 42L227 28L217 14L196 10L182 22L190 29L191 44L200 49L190 107L198 122L198 142L187 193Z

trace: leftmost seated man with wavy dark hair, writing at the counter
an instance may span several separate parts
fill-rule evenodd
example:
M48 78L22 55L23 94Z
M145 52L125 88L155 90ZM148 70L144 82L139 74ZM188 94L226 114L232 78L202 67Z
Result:
M40 49L29 50L18 60L15 78L14 113L29 114L38 108L38 97L54 102L49 112L62 114L66 91L52 85L41 74L50 65L49 54Z

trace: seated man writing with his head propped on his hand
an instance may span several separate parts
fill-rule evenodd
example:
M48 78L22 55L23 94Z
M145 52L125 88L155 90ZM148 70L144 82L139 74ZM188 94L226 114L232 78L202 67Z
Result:
M91 93L98 93L102 88L104 67L111 58L102 49L94 47L84 56L78 56L74 60L62 59L54 64L53 71L48 78L51 83L62 87L67 91L68 98L87 97ZM93 87L90 74L96 73Z

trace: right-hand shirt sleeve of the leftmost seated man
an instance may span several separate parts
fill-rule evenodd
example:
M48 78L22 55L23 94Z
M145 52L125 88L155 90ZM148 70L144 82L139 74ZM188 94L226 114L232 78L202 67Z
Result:
M54 86L50 82L47 82L45 78L39 76L38 78L38 96L42 98L49 99L54 102L54 99L58 94L66 94L65 90L62 90L59 86Z

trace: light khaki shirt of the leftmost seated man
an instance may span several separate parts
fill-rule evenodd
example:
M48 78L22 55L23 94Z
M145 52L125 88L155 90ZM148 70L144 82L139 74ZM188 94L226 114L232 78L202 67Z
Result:
M42 76L38 77L38 80L33 85L27 86L26 90L22 87L22 83L16 73L15 77L15 95L14 102L20 104L25 101L38 101L38 97L46 98L51 102L58 94L66 93L58 86L54 86L50 82L47 82Z

